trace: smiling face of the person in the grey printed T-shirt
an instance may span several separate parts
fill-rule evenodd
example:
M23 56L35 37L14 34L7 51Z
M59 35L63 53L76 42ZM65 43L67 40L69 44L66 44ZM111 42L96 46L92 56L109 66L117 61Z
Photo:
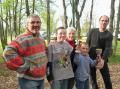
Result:
M57 31L57 42L62 42L66 39L66 30L58 29Z

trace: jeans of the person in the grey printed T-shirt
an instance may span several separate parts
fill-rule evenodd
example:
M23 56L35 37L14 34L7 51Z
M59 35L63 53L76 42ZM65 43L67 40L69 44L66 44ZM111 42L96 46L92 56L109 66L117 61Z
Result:
M51 84L51 89L67 89L68 80L53 80Z

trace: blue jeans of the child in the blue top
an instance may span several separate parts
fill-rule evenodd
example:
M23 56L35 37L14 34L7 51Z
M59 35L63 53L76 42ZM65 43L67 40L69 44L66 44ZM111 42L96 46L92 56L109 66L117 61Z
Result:
M79 79L76 79L76 88L77 89L89 89L89 79L85 81L80 81Z

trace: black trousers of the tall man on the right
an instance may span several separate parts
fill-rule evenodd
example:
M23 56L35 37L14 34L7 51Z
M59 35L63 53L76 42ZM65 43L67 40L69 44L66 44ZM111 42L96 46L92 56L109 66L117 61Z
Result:
M102 75L105 88L112 89L112 83L109 74L109 68L107 62L104 63L104 67L100 69L100 73ZM92 80L92 87L93 89L99 89L96 80L96 68L91 68L91 80Z

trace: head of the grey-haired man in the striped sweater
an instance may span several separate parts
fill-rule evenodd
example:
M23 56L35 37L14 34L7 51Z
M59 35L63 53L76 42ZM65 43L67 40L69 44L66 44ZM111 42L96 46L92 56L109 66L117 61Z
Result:
M27 30L33 34L39 33L41 28L41 20L39 16L31 16L27 19Z

